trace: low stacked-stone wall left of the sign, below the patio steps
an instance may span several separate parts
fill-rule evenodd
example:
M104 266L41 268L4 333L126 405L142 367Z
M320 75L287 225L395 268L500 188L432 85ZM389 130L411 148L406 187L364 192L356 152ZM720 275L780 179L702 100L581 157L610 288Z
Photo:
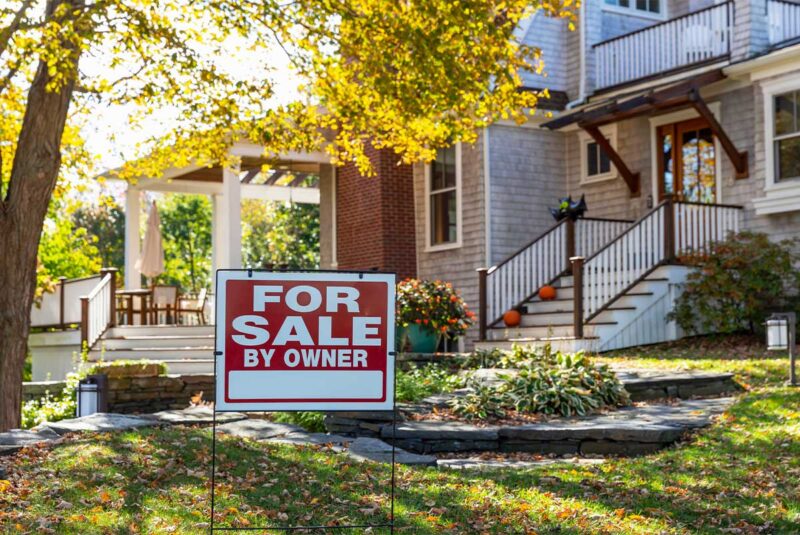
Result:
M39 399L46 391L61 393L62 381L24 383L23 400ZM193 396L202 392L204 401L214 400L214 376L161 375L152 377L110 377L108 410L124 414L151 413L166 409L183 409Z

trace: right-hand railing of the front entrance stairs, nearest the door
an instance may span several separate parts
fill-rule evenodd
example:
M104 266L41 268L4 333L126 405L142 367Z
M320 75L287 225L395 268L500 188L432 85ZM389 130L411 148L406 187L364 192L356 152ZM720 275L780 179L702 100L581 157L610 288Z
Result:
M665 201L594 255L573 265L576 336L582 325L658 266L739 230L741 207Z

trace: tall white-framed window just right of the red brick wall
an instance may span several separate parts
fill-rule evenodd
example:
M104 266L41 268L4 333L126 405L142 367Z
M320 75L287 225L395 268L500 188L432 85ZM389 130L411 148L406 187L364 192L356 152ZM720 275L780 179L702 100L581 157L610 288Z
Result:
M461 166L457 146L439 149L426 173L428 247L449 248L460 245L459 187Z

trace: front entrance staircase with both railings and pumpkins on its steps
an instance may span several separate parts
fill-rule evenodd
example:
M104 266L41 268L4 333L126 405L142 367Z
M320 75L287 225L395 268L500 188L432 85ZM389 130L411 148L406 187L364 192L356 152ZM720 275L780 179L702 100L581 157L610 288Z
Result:
M517 253L479 271L478 349L512 345L608 351L676 340L667 321L691 271L688 253L738 230L741 207L668 200L636 222L562 221ZM556 288L543 301L539 289ZM518 310L518 326L503 314Z

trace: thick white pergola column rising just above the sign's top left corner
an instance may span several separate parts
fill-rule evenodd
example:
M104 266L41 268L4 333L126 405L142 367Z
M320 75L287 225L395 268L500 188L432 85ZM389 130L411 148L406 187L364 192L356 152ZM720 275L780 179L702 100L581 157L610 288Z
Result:
M217 234L218 268L242 267L242 192L238 169L223 169L222 195L214 203Z

